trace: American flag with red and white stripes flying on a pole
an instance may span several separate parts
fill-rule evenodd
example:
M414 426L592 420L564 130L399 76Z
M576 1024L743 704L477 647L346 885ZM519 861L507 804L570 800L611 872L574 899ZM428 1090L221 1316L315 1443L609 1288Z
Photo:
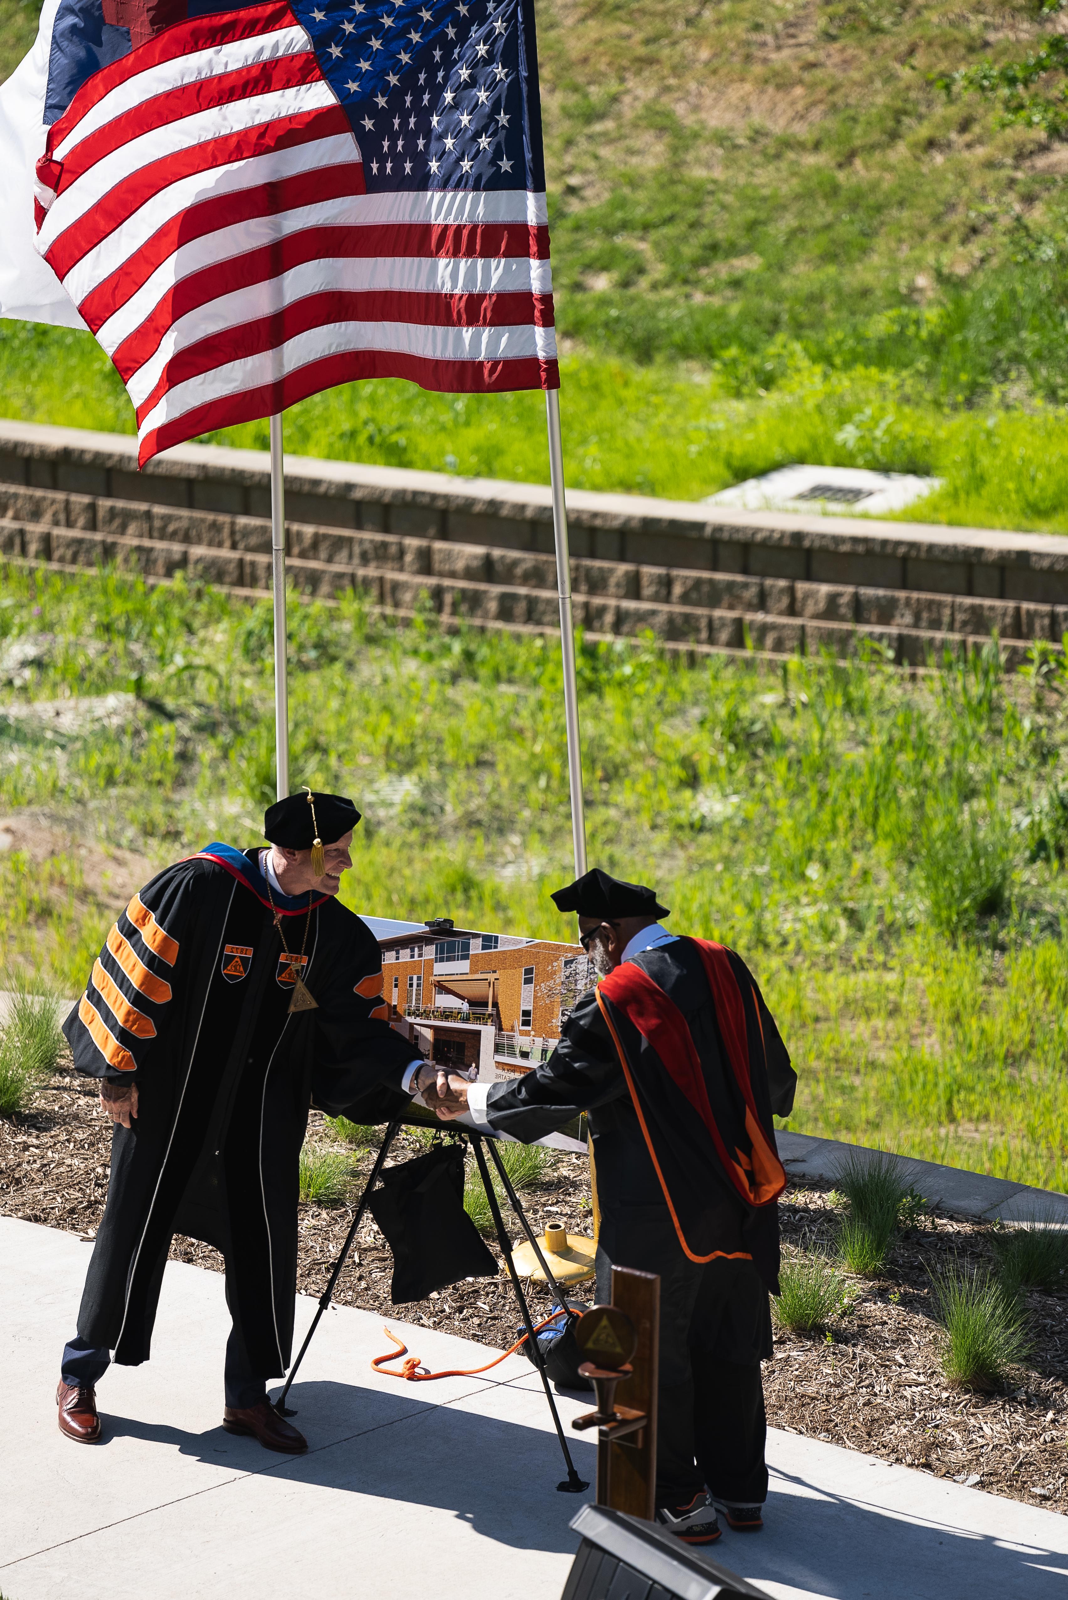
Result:
M262 0L131 35L53 122L35 211L142 466L357 378L558 387L532 0Z

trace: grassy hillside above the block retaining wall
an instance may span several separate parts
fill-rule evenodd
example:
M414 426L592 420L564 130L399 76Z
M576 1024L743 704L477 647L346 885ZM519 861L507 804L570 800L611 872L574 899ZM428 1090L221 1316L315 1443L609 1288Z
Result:
M0 64L32 26L0 0ZM542 0L569 482L695 498L852 462L943 477L932 520L1068 531L1068 149L932 82L1055 26L1039 0ZM0 411L131 427L86 336L10 323ZM363 384L288 437L547 475L536 395Z

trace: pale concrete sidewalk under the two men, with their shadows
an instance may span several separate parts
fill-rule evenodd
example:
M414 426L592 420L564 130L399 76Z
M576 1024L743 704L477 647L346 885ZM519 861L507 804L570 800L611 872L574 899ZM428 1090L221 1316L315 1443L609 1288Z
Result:
M219 1427L229 1318L222 1278L171 1262L153 1358L101 1386L107 1440L56 1427L59 1350L90 1246L0 1218L0 1594L6 1600L556 1600L579 1499L537 1378L510 1357L484 1378L401 1384L369 1368L382 1318L341 1307L293 1390L312 1451L296 1461ZM297 1307L302 1334L313 1301ZM432 1368L475 1344L390 1326ZM561 1398L564 1422L588 1400ZM584 1477L593 1448L572 1435ZM767 1526L715 1555L774 1600L1054 1600L1068 1520L791 1434L769 1438Z

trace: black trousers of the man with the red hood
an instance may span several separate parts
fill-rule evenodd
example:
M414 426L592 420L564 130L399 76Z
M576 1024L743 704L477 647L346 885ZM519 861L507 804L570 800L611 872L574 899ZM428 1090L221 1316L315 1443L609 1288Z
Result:
M761 1360L772 1354L771 1306L751 1261L697 1264L664 1205L606 1210L596 1293L611 1299L611 1264L660 1277L657 1504L702 1488L734 1506L767 1498Z

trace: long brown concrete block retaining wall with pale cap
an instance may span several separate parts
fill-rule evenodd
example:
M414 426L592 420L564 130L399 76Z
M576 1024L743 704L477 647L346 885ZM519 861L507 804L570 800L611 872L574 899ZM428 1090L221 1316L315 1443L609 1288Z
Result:
M568 496L576 621L601 637L900 662L998 632L1009 664L1068 632L1068 538ZM0 550L54 566L184 571L270 586L270 483L257 451L184 445L136 470L114 434L0 422ZM325 598L520 629L558 626L542 485L286 459L289 573Z

